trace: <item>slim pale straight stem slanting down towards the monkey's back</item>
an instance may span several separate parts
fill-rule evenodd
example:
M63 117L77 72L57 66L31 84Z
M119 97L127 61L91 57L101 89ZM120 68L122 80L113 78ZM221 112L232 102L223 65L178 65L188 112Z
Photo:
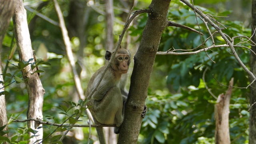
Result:
M53 1L54 1L54 6L55 6L55 9L56 9L56 12L58 14L59 21L60 21L60 29L61 29L61 32L62 32L64 44L66 46L66 53L67 53L67 56L68 56L68 60L70 62L70 66L71 66L72 72L74 74L74 82L75 82L75 85L76 85L76 90L78 92L79 98L84 100L84 98L85 98L84 90L82 88L78 73L76 72L76 64L75 64L75 60L74 60L74 56L73 56L73 52L72 52L72 48L71 48L70 39L68 37L68 30L65 26L64 18L63 18L63 15L62 15L62 12L60 10L60 6L59 6L57 0L53 0Z

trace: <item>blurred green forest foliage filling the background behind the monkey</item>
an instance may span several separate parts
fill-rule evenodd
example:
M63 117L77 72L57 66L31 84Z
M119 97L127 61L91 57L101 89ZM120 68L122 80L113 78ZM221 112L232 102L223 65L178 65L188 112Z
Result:
M80 72L82 86L86 90L88 81L92 74L104 65L104 54L106 44L106 18L104 14L97 11L91 6L86 7L87 21L85 22L83 39L74 32L72 22L70 21L71 2L68 0L58 0L66 25L69 30L70 40L72 42L72 50L76 57L76 66ZM88 1L85 4L89 4ZM104 1L96 2L100 6ZM250 7L250 0L240 2L245 7ZM58 22L58 18L52 1L36 1L24 0L26 6L36 9L43 15ZM148 8L149 0L139 0L135 9ZM227 27L223 30L230 37L237 35L245 35L250 37L250 27L245 21L235 20L232 7L227 0L195 0L195 5L199 5L201 9L206 10L205 13L214 16L230 16L230 18L216 17L216 20ZM120 34L124 20L127 14L123 11L125 8L120 1L114 0L114 34ZM213 6L213 7L212 7ZM206 8L203 8L206 7ZM126 8L127 9L127 8ZM248 10L244 10L248 13ZM72 70L69 66L66 56L60 28L54 26L42 18L35 16L32 12L27 12L30 39L32 47L35 50L37 58L43 58L44 61L51 65L40 65L40 79L45 89L43 115L44 120L50 122L62 123L68 116L76 112L78 98L72 78ZM147 14L141 14L134 20L134 24L128 29L131 36L131 42L128 48L135 54L142 30L146 24ZM186 25L190 28L198 30L194 12L184 6L179 0L172 0L168 11L168 20ZM82 21L82 20L81 20ZM75 23L80 22L77 20ZM200 31L204 33L203 40L209 37L206 27L201 20ZM212 32L214 30L210 29ZM8 54L12 43L13 24L4 38L1 51L3 65L6 65ZM127 38L128 36L126 36ZM125 46L125 40L122 47ZM220 36L214 37L215 44L224 44ZM117 42L118 36L114 36ZM83 42L83 45L81 44ZM184 30L177 27L168 27L164 30L158 51L167 51L169 49L190 50L201 44L199 34ZM81 47L81 45L83 47ZM209 40L206 46L212 45ZM244 45L250 48L250 45ZM177 51L181 52L181 51ZM236 52L241 60L248 66L250 50L236 48ZM248 76L242 70L234 56L230 54L228 48L215 48L207 51L212 62L205 52L195 55L165 55L156 56L154 69L150 79L148 90L148 98L146 104L148 112L142 122L142 129L138 143L140 144L212 144L214 143L214 104L216 99L206 90L202 80L203 72L206 71L205 81L215 96L225 93L226 87L219 83L229 85L229 81L234 77L234 84L238 87L246 87ZM18 52L15 52L10 59L7 73L14 74L18 65ZM13 64L13 65L12 65ZM16 66L14 66L16 65ZM130 68L130 73L132 68ZM21 73L16 73L16 77L20 77ZM216 81L214 77L216 78ZM15 78L15 77L14 77ZM10 79L10 77L9 77ZM8 80L8 76L4 81ZM6 104L8 116L20 120L26 119L26 108L28 106L28 93L23 81L19 84L7 86L5 90L9 93L6 95ZM129 83L129 82L128 82ZM127 86L129 88L129 84ZM235 88L232 92L230 101L230 138L232 144L248 143L248 118L247 112L247 96L248 90ZM72 102L75 103L72 103ZM71 102L71 103L70 103ZM70 108L70 109L69 109ZM68 113L70 112L70 113ZM68 115L67 115L68 114ZM78 124L87 124L86 116L80 118L82 122ZM72 120L71 120L72 121ZM71 122L69 121L69 122ZM9 120L9 137L11 142L26 143L28 131L26 123L15 123ZM53 130L54 126L44 125L44 138ZM55 142L59 138L60 133L65 130L58 128L55 135L50 136L47 142ZM84 140L77 140L74 136L68 136L66 143L85 143L88 140L89 128L83 128ZM96 131L92 128L92 134L96 135ZM95 140L95 139L92 139Z

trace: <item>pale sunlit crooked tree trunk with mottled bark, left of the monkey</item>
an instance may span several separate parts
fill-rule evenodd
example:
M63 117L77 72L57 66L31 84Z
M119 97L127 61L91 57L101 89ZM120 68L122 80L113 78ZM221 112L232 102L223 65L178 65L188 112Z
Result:
M30 58L34 58L33 50L30 41L30 34L28 31L28 23L26 10L23 6L22 0L17 0L17 5L15 8L14 16L14 32L17 46L20 48L19 56L20 60L28 61ZM32 61L34 62L34 60ZM22 70L23 79L28 79L25 83L28 89L28 111L27 118L36 118L43 119L42 115L42 106L44 101L44 88L42 87L42 83L38 74L31 75L32 72L30 66L26 66ZM29 132L30 134L30 142L29 144L33 144L37 140L42 140L43 137L43 129L38 129L38 126L42 126L42 124L37 124L33 121L28 122L28 128L32 128L33 130L38 131L35 135ZM40 142L39 141L39 142Z

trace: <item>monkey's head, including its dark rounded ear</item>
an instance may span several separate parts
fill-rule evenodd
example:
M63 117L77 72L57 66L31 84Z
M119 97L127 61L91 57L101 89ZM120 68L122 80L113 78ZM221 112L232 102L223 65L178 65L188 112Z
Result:
M114 51L115 50L113 50L113 52ZM113 52L111 52L109 50L106 51L106 54L105 54L106 60L110 60ZM111 65L116 72L125 74L125 73L127 73L129 64L131 62L130 57L131 57L131 54L130 54L129 50L126 50L124 48L118 48Z

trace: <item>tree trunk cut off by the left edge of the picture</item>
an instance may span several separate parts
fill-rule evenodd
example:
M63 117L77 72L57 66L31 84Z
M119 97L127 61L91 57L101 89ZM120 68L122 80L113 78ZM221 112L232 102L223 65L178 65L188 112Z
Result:
M14 12L16 5L16 0L0 0L0 50L2 49L2 43L4 39L5 32L10 24L10 18ZM0 56L0 72L2 72L2 59ZM4 81L3 76L0 75L0 80ZM0 84L0 88L4 85ZM4 88L0 92L4 91ZM6 103L5 96L0 96L0 127L6 125L4 130L8 130L8 120L6 114ZM7 134L4 136L8 136Z

